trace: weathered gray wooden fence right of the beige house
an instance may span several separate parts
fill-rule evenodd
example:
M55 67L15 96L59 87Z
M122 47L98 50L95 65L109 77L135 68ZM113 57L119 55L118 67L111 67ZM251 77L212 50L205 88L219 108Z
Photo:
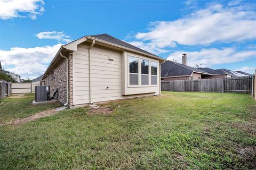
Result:
M252 76L237 79L171 80L162 81L161 89L163 91L239 92L250 94L252 84Z

